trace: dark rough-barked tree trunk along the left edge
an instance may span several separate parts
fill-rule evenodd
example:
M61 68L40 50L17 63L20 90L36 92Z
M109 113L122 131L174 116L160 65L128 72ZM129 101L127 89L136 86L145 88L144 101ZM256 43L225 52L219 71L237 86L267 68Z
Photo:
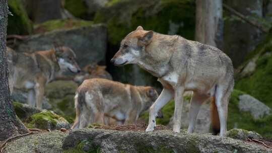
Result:
M7 61L7 24L8 1L0 1L0 140L28 132L24 124L16 117L11 101L8 84Z

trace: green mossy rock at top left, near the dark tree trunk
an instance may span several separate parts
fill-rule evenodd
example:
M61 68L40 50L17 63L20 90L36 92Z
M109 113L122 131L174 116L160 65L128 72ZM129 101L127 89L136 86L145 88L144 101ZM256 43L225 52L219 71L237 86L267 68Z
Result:
M28 35L32 33L32 22L27 16L22 0L9 0L9 11L13 14L8 18L8 35Z

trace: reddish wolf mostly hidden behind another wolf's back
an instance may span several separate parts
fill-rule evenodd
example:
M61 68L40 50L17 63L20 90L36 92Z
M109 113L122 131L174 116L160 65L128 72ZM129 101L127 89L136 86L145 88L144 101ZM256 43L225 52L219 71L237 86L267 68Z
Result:
M112 80L110 73L106 71L106 66L92 63L84 66L81 73L75 76L74 81L78 84L82 84L84 80L93 78Z

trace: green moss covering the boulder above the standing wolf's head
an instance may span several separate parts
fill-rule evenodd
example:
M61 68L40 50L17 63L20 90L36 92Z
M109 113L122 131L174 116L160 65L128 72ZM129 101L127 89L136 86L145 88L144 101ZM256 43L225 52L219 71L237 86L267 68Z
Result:
M194 12L192 1L110 1L110 7L96 13L96 23L107 23L109 42L117 45L129 32L142 25L145 29L167 34L170 21L182 24L177 34L188 39L194 36ZM155 10L155 11L154 11ZM179 16L177 16L179 14ZM125 15L125 17L124 17Z

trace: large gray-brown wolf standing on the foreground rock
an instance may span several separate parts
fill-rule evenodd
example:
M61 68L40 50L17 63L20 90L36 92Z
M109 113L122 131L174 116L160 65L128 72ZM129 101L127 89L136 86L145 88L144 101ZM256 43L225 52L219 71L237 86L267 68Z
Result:
M234 86L233 65L218 48L139 26L122 40L111 62L116 66L138 64L163 85L161 95L150 108L146 131L155 129L155 114L174 97L173 131L180 132L183 93L193 91L188 133L194 130L201 104L212 97L213 132L217 134L220 130L221 136L226 135L228 103Z

